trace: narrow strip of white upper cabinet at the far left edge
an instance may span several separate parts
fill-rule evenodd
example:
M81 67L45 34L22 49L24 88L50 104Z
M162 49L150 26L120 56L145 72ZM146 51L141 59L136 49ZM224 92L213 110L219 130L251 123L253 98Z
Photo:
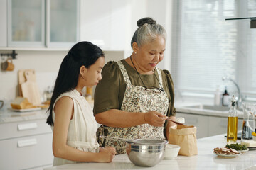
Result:
M7 47L7 1L0 0L0 47Z

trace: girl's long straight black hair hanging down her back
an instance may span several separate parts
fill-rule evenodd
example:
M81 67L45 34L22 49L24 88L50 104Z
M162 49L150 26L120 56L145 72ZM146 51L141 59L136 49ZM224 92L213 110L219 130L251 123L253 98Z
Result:
M50 106L47 110L47 112L50 111L50 114L46 123L54 125L53 104L60 94L75 89L78 84L80 67L85 66L88 69L99 57L104 57L104 53L100 47L93 45L91 42L78 42L70 49L60 64L60 70L53 89L53 96L50 99Z

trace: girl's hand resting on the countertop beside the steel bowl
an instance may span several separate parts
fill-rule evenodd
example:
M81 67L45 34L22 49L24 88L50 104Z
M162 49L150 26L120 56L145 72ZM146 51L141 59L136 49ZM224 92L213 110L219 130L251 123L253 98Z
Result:
M98 162L112 162L115 154L117 152L114 147L100 147Z

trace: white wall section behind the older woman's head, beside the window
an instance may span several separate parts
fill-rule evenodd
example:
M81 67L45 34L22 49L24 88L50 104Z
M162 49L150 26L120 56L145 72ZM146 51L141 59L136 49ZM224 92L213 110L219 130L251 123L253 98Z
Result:
M158 67L161 69L168 69L171 67L171 8L172 1L169 0L129 0L127 5L129 11L129 42L125 56L129 57L132 54L130 41L134 31L138 28L137 21L144 17L151 17L156 20L156 23L161 24L166 29L166 51L164 52L164 60L159 63Z

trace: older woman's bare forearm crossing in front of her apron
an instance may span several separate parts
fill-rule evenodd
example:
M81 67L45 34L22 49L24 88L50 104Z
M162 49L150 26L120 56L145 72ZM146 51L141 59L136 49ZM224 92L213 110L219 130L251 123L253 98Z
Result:
M110 127L132 127L146 123L145 113L127 112L117 109L111 109L95 115L97 123L107 125Z

